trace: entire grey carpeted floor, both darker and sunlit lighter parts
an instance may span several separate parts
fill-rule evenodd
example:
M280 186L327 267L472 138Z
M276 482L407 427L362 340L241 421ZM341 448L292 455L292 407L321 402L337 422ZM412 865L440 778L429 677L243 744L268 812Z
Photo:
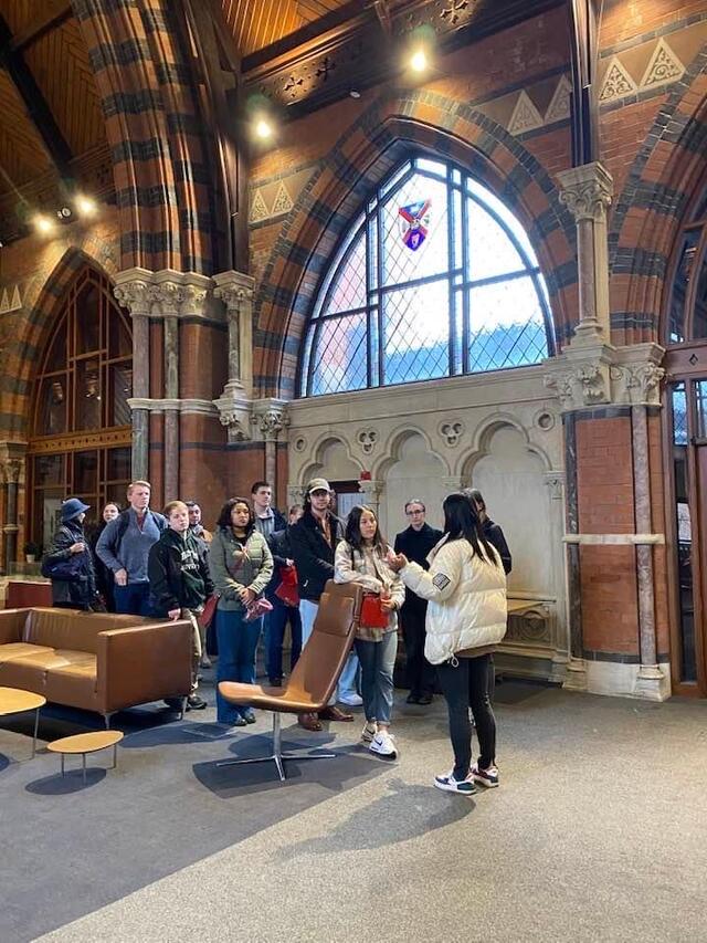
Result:
M344 756L284 786L214 771L258 743L191 715L131 732L87 789L50 789L56 757L11 763L0 939L707 940L707 705L511 683L497 716L503 785L473 799L431 786L441 702L398 705L393 764L351 746L358 726L296 734Z

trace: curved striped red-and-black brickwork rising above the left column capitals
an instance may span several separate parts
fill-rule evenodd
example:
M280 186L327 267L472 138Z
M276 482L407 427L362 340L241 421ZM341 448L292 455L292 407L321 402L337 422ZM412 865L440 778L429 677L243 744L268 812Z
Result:
M212 187L168 0L76 0L110 144L120 268L211 274Z

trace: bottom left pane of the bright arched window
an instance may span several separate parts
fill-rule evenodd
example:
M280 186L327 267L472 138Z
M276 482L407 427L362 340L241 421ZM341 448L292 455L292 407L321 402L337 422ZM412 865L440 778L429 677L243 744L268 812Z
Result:
M366 315L331 317L320 325L312 395L361 389L367 383Z

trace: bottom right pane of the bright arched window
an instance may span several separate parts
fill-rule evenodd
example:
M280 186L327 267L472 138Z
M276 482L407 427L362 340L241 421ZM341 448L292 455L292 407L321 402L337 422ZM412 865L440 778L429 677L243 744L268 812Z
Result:
M542 310L532 279L494 282L469 291L469 370L499 370L547 357Z

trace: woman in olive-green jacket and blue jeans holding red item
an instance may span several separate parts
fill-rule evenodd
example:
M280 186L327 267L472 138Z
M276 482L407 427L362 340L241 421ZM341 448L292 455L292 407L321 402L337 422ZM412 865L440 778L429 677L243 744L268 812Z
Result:
M255 723L252 708L231 704L219 681L255 683L255 651L263 617L246 620L246 607L263 593L273 575L267 541L255 530L253 509L244 497L231 497L221 509L211 542L209 567L220 594L217 607L219 663L217 720L230 731Z

